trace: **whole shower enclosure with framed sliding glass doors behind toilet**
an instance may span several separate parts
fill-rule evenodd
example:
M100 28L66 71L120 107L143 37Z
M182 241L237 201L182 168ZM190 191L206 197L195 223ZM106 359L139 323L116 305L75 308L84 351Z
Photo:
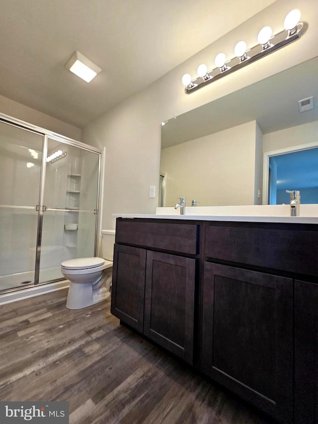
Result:
M0 293L96 254L101 151L0 114Z

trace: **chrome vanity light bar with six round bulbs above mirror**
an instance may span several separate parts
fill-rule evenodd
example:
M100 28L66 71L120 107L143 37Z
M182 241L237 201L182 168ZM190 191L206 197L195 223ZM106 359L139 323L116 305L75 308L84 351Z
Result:
M274 35L272 35L271 27L265 26L258 33L258 44L251 48L247 48L244 41L239 41L234 49L236 57L231 60L227 60L224 53L219 53L214 62L216 68L211 71L208 71L206 65L200 65L197 70L198 77L192 80L190 74L185 74L182 77L182 84L185 86L184 91L186 94L190 94L298 40L308 29L308 23L300 22L300 16L301 13L298 9L289 12L284 20L285 29Z

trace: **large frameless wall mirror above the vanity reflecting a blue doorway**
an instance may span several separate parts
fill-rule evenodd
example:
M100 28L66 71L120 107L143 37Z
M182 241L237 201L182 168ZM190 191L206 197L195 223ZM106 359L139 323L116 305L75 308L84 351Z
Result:
M312 96L313 109L300 112L299 100ZM180 196L187 206L191 200L199 206L288 203L283 192L289 189L306 190L302 203L318 203L316 146L318 58L166 121L160 198L167 207ZM285 160L299 150L307 153ZM277 196L269 195L273 186Z

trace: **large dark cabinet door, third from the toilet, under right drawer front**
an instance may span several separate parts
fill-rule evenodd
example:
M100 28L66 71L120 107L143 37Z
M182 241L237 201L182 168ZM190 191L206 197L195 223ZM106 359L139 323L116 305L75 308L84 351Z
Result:
M292 422L293 280L204 263L202 371Z

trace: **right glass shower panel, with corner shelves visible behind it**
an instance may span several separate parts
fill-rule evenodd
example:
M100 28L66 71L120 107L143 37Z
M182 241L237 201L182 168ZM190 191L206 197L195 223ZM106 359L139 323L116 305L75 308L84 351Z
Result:
M48 138L39 282L64 260L94 256L99 154Z

